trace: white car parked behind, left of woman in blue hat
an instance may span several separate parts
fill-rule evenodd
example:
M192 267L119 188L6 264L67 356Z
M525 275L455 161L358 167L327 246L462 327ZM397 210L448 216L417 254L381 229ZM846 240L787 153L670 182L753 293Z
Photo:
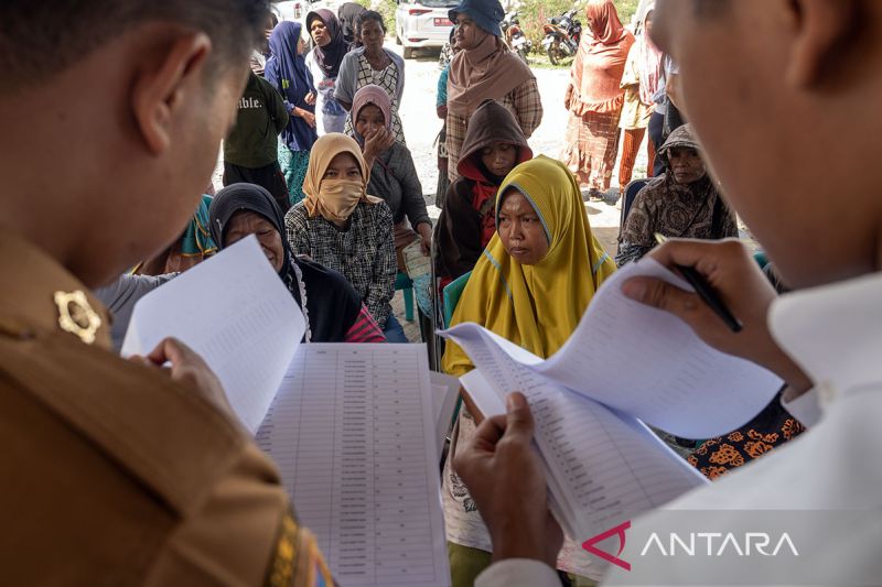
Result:
M441 48L450 41L453 23L448 17L458 0L398 0L395 11L395 41L405 46L405 58L415 48Z

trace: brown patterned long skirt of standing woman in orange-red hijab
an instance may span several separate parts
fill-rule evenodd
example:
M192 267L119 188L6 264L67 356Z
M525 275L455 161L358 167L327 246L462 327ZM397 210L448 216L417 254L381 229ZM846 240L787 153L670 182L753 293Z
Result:
M563 161L579 183L592 191L610 188L619 150L621 113L621 110L603 115L591 112L584 117L570 113Z

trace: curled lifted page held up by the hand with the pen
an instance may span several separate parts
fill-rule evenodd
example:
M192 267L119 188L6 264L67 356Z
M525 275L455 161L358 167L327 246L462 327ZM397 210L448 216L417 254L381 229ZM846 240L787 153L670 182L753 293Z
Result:
M574 393L685 438L727 434L768 405L781 379L711 348L671 314L625 297L622 283L634 276L691 289L653 259L628 263L603 283L576 331L548 360L476 324L461 324L445 336L460 343L478 369L485 365L472 352L498 348Z

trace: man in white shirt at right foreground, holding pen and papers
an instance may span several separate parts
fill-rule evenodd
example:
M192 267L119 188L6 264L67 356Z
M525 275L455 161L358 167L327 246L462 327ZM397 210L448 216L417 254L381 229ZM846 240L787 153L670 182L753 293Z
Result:
M653 256L702 273L742 319L742 333L669 285L635 280L624 292L779 374L790 388L785 405L809 431L626 531L645 536L670 515L703 510L741 536L763 512L768 520L795 512L804 528L781 555L790 558L654 558L642 584L649 576L668 585L879 585L882 197L873 164L882 2L658 0L654 24L654 40L679 65L685 111L728 199L797 293L775 300L739 243L690 241ZM495 563L476 585L557 586L548 564L560 530L530 449L533 418L519 394L508 409L485 421L454 461L493 540ZM635 584L643 546L628 544L621 556L632 570L613 566L606 580ZM706 578L709 570L717 580Z

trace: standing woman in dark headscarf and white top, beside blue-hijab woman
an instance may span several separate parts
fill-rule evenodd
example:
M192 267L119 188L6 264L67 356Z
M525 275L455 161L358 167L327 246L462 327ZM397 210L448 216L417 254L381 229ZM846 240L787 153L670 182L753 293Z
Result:
M319 137L329 132L343 132L346 110L334 98L340 64L349 50L340 21L327 9L306 14L306 30L315 48L306 55L306 68L312 74L318 90L315 102L315 130Z

